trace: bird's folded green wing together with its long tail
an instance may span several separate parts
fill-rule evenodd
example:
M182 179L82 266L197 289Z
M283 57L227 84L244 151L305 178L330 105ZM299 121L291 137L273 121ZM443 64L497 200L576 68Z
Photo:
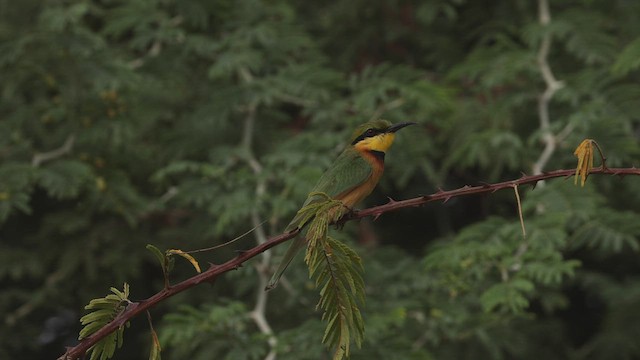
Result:
M316 186L313 187L311 193L321 192L327 194L331 198L336 198L338 195L349 191L356 186L362 184L371 176L373 169L371 165L358 154L356 150L347 149L338 156L333 166L329 168L318 180ZM307 197L302 207L305 207L314 202L323 201L322 196ZM291 220L286 231L293 231L300 227L300 222L305 218L304 213L298 212L296 216ZM280 261L278 269L269 280L265 290L273 289L278 284L278 280L287 269L287 266L291 263L291 260L296 256L298 251L304 247L306 239L303 236L298 236L294 239L293 243L287 249L284 257Z

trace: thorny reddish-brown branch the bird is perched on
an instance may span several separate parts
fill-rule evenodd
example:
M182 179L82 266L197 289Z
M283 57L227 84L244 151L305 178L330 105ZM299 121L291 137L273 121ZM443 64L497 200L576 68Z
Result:
M343 223L350 220L360 219L368 216L378 217L384 213L395 211L408 207L416 207L428 202L432 201L443 201L447 202L449 199L458 196L467 196L473 194L481 194L481 193L493 193L498 190L513 188L514 186L520 186L525 184L533 184L535 185L538 181L558 178L558 177L570 177L575 174L574 169L569 170L555 170L550 172L545 172L539 175L523 175L519 179L504 181L496 184L485 184L480 186L464 186L459 189L450 190L450 191L438 191L431 195L424 195L412 199L395 201L390 200L389 203L385 205L375 206L368 209L364 209L361 211L355 211L344 216L339 222ZM636 168L596 168L592 169L590 174L609 174L609 175L640 175L640 169ZM182 291L185 291L189 288L192 288L198 284L203 282L212 282L219 275L230 271L235 270L238 267L242 266L242 264L249 259L261 254L262 252L283 243L289 239L294 238L298 235L299 230L293 231L290 233L280 234L274 237L267 239L266 242L251 248L247 251L240 253L237 257L225 262L221 265L211 265L209 269L203 273L200 273L196 276L193 276L189 279L186 279L176 285L170 286L167 289L163 289L157 294L151 296L146 300L142 300L139 302L133 302L124 312L122 312L115 320L105 325L103 328L95 332L93 335L83 339L78 343L78 345L68 348L66 353L58 358L58 360L74 360L82 357L86 351L93 346L95 343L100 341L105 336L109 335L118 327L124 325L127 321L131 320L133 317L138 316L139 314L149 310L150 308L156 306L161 301L176 295Z

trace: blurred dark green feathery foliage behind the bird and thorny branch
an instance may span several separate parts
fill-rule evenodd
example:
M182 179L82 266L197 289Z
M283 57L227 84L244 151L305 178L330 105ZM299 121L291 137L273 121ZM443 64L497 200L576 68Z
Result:
M545 169L575 166L585 137L638 166L640 3L550 7L543 27L524 0L0 1L0 358L59 356L111 286L160 290L147 243L208 247L256 218L279 233L370 118L420 125L369 205L530 172L545 34L565 85ZM595 176L521 189L527 241L510 192L347 224L334 236L359 245L367 289L352 358L640 357L639 194ZM266 356L257 261L153 310L165 358ZM286 277L266 310L278 359L328 358L302 257ZM146 326L116 358L147 356Z

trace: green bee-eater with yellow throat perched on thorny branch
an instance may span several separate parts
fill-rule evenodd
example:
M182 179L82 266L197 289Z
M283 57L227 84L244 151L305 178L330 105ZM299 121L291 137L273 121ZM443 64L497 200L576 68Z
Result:
M350 143L320 177L302 208L326 201L326 197L321 195L326 194L331 199L342 201L347 209L352 209L369 196L380 181L384 171L385 153L393 144L396 131L414 124L414 122L392 124L388 120L378 119L358 126L351 135ZM305 218L308 220L307 214L298 211L285 232L301 230L308 223ZM271 290L277 286L280 277L305 243L304 236L296 237L265 290Z

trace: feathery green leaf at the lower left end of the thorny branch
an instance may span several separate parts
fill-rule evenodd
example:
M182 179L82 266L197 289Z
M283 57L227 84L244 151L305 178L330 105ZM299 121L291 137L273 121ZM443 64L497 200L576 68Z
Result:
M82 340L91 336L91 334L100 330L102 327L113 321L120 313L122 313L129 303L129 284L124 284L123 291L111 288L113 294L109 294L103 298L93 299L84 308L91 310L80 319L80 323L84 328L80 330L78 340ZM87 352L91 353L90 360L107 360L110 359L116 351L116 348L122 346L124 328L129 327L127 322L120 326L118 330L105 336L102 340L89 348Z

